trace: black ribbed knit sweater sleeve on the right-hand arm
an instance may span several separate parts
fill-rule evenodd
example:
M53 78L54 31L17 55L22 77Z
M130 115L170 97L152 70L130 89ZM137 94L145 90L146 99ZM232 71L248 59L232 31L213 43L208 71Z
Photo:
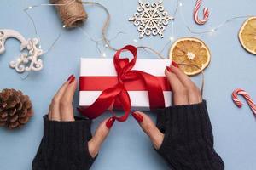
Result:
M223 170L213 148L206 101L168 107L158 113L157 127L165 138L157 150L173 170Z

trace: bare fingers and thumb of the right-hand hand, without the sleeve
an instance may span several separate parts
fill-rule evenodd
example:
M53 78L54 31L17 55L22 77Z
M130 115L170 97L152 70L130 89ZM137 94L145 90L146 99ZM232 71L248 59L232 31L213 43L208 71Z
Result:
M170 67L166 67L165 73L172 87L173 105L193 105L202 102L200 89L178 68L175 62L172 62ZM154 148L159 149L165 136L164 133L161 133L151 118L143 112L136 111L132 113L132 116L139 122L143 131L148 134Z

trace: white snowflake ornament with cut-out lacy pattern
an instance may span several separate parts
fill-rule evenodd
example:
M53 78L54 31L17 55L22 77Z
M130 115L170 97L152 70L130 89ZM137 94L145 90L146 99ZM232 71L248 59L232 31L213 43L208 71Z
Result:
M143 3L139 0L139 6L137 7L137 13L133 17L129 18L130 21L133 21L134 26L138 26L137 30L140 32L139 37L143 38L146 34L150 36L157 34L160 37L163 36L163 31L165 31L166 26L168 25L168 20L174 20L172 16L169 16L163 7L163 0L160 0L159 3Z

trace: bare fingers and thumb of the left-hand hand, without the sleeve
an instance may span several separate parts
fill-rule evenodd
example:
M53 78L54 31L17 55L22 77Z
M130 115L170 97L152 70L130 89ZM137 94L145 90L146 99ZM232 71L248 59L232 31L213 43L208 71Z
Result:
M76 87L77 81L75 77L73 75L68 77L67 82L64 82L49 105L49 121L75 122L72 103ZM92 158L98 154L114 121L113 117L104 120L97 127L95 135L88 141L88 150Z

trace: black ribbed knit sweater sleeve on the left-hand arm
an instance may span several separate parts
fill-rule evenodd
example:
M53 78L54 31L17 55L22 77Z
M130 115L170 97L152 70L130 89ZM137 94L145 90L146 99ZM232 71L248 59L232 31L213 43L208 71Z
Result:
M32 169L89 169L94 161L88 150L90 124L90 120L81 117L75 117L75 122L56 122L44 116L44 136Z

